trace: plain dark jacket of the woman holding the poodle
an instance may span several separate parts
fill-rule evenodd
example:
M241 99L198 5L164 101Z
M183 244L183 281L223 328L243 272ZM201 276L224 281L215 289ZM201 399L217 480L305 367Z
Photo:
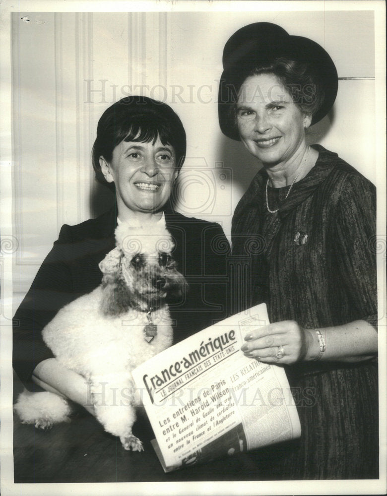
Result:
M170 306L178 342L226 316L228 242L219 224L168 210L166 226L173 258L189 291ZM115 247L117 211L76 226L64 225L14 316L13 367L27 385L36 365L53 354L41 336L44 326L64 305L91 292L102 279L98 263Z

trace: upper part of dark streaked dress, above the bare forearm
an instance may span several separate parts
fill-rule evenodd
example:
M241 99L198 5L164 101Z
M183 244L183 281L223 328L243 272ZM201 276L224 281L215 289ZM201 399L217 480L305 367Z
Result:
M264 301L270 322L310 329L363 318L375 325L375 186L336 153L313 147L316 165L286 201L286 186L270 188L277 214L267 212L263 169L235 210L233 255L252 264L246 306ZM247 240L255 242L250 252Z

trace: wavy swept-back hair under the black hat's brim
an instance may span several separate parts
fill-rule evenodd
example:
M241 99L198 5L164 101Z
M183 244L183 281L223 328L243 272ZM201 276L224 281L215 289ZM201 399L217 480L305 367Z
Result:
M274 74L303 114L313 116L323 104L323 88L306 63L278 58L255 67L250 73L259 74Z

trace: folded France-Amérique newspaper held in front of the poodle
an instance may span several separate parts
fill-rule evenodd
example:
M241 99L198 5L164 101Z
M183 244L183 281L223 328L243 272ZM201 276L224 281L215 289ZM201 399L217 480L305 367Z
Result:
M132 372L166 472L300 436L283 368L240 350L244 337L268 321L266 305L258 305Z

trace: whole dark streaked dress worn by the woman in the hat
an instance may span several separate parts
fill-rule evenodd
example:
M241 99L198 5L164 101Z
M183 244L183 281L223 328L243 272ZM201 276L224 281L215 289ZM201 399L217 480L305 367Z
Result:
M235 210L233 255L250 264L242 306L266 302L271 322L305 328L357 319L376 327L375 186L337 154L314 148L315 167L286 200L288 186L269 188L277 213L266 208L264 170ZM302 434L250 452L259 478L378 478L377 361L285 369Z

